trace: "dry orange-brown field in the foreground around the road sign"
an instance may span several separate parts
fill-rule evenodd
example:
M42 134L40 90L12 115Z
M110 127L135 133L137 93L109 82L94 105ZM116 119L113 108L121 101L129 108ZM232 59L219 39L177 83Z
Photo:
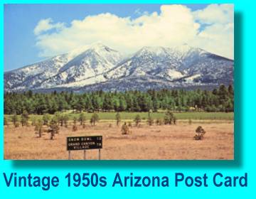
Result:
M110 124L112 127L110 127ZM195 129L201 125L206 130L202 141L193 140ZM87 124L78 131L70 127L60 128L60 133L50 140L45 133L38 138L34 127L4 127L5 159L68 159L67 136L103 136L101 159L233 159L234 127L228 121L201 121L192 124L178 122L176 125L130 128L132 134L122 135L121 125L101 121L95 127ZM82 151L72 151L72 159L82 159ZM97 159L98 150L87 150L87 159Z

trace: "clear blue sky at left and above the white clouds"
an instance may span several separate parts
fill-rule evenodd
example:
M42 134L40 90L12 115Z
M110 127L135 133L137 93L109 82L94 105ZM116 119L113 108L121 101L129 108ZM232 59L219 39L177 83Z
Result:
M55 23L70 26L73 20L82 21L86 16L109 12L121 18L138 18L140 14L160 11L159 4L6 4L4 6L4 70L21 68L24 65L46 59L36 41L34 28L38 21L51 18ZM191 11L205 9L207 4L186 4ZM201 23L201 28L204 23ZM51 32L48 32L49 34Z

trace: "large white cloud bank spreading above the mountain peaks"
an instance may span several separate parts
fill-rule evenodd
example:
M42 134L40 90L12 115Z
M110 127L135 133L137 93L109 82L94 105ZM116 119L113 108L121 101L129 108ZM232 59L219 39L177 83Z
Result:
M110 13L86 16L68 26L43 19L34 30L36 45L41 56L50 56L99 41L122 53L134 53L143 46L188 43L233 58L232 5L213 4L194 12L183 5L163 5L159 13L136 12L140 13L137 18Z

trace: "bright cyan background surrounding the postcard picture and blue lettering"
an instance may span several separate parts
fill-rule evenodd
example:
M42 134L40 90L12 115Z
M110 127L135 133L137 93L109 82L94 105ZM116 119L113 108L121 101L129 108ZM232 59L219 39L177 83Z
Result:
M64 3L68 1L1 1L1 142L0 197L1 198L255 198L256 188L256 132L255 132L255 1L122 1L134 4L235 4L235 160L234 161L4 161L3 99L4 99L4 6L10 3ZM70 1L69 1L70 2ZM72 3L119 3L118 1L72 1ZM58 176L58 188L43 191L41 188L7 188L3 172L16 172L27 176ZM106 176L105 188L68 188L65 174L71 172L98 173ZM112 188L115 173L122 176L170 176L169 188ZM174 186L174 173L209 178L220 172L227 176L248 173L248 187L207 188ZM209 181L210 182L210 181Z

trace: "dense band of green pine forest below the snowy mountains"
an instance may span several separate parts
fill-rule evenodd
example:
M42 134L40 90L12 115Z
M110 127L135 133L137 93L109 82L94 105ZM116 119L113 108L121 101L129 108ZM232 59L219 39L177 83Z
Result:
M127 92L51 92L4 93L4 114L54 114L74 112L157 112L171 111L233 112L233 86L220 85L209 90L148 90Z

